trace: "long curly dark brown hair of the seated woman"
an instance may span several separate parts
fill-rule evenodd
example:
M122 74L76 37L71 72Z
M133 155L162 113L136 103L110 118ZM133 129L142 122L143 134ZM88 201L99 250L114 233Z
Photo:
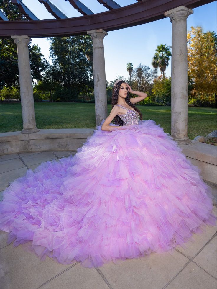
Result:
M121 84L122 83L126 83L125 81L119 81L114 87L113 87L113 91L112 91L112 99L111 99L111 106L112 108L114 107L114 105L116 105L118 103L118 93L119 93L119 90L120 90L120 87L121 87ZM135 111L137 111L139 113L139 116L140 116L140 119L142 120L142 113L140 112L140 110L135 107L135 105L130 101L130 98L129 98L129 91L127 92L127 96L125 98L126 100L126 103L131 106ZM121 118L116 115L116 117L114 118L114 123L116 125L120 125L120 126L123 126L124 125L124 122L123 120L121 120Z

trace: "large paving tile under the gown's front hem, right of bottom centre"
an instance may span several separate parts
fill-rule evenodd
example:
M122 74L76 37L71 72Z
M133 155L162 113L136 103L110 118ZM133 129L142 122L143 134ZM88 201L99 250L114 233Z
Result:
M113 288L161 289L189 261L178 252L151 253L142 259L106 264L99 269Z

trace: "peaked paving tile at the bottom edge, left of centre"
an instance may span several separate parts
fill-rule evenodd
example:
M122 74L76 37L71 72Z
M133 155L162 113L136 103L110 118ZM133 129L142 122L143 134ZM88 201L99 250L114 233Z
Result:
M88 269L77 264L41 288L108 289L109 287L95 268Z

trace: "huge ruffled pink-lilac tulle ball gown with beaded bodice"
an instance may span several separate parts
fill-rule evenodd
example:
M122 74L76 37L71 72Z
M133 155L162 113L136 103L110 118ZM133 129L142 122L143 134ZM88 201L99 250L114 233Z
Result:
M0 202L9 242L98 267L175 249L215 225L210 188L172 137L134 110L120 117L123 129L99 126L75 156L10 184Z

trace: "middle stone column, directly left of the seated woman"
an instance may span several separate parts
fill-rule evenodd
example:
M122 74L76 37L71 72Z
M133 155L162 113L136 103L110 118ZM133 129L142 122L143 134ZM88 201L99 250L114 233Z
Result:
M102 29L87 31L93 39L93 81L96 125L108 116L106 97L106 70L103 38L108 33Z

